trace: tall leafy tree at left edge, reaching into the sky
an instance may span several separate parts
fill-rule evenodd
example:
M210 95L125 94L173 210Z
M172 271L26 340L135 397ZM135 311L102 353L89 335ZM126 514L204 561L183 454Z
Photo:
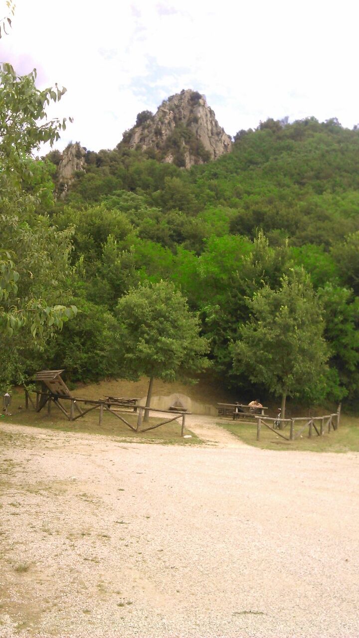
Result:
M77 309L68 278L70 232L57 232L34 209L41 202L41 168L30 167L31 152L53 142L65 128L45 118L45 105L63 91L38 91L36 73L17 77L10 64L0 66L0 383L20 381L29 352L45 347ZM46 179L48 177L47 171ZM34 187L29 180L34 177ZM48 183L43 182L48 190Z

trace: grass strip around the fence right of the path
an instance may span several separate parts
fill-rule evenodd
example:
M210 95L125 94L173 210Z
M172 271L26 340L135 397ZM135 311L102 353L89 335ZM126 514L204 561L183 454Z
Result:
M285 441L273 433L262 423L261 438L257 437L257 424L254 422L218 422L218 426L224 427L232 434L240 438L243 443L259 447L262 450L302 450L306 452L358 452L359 451L359 419L356 417L340 417L339 428L323 436L317 436L313 430L312 438L308 438L308 428L302 433L303 438L294 441ZM299 426L298 426L299 429ZM289 426L284 430L289 436Z

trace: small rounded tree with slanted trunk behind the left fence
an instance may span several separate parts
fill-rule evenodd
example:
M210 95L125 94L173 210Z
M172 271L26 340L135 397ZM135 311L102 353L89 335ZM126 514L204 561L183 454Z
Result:
M155 379L187 378L185 375L208 365L204 357L208 341L199 334L198 318L172 283L159 281L132 288L119 300L116 316L122 374L132 380L149 376L147 407Z

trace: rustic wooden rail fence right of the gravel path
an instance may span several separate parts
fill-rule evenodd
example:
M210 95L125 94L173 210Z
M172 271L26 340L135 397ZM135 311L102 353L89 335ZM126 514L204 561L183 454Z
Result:
M256 416L257 419L257 441L261 437L261 426L266 426L272 432L281 436L286 441L295 441L303 435L303 432L308 428L308 437L323 436L325 433L330 433L330 430L336 430L339 427L340 422L340 405L337 412L333 414L326 414L323 417L294 417L294 419L271 419L270 417L263 417L262 415ZM275 428L275 425L279 425L279 428ZM284 429L289 426L289 436L283 434ZM299 427L299 429L298 429Z

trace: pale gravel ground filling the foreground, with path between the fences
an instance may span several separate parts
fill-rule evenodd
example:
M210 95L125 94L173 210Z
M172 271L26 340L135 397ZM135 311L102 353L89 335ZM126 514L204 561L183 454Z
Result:
M1 424L1 638L358 638L359 455L188 427L210 444Z

